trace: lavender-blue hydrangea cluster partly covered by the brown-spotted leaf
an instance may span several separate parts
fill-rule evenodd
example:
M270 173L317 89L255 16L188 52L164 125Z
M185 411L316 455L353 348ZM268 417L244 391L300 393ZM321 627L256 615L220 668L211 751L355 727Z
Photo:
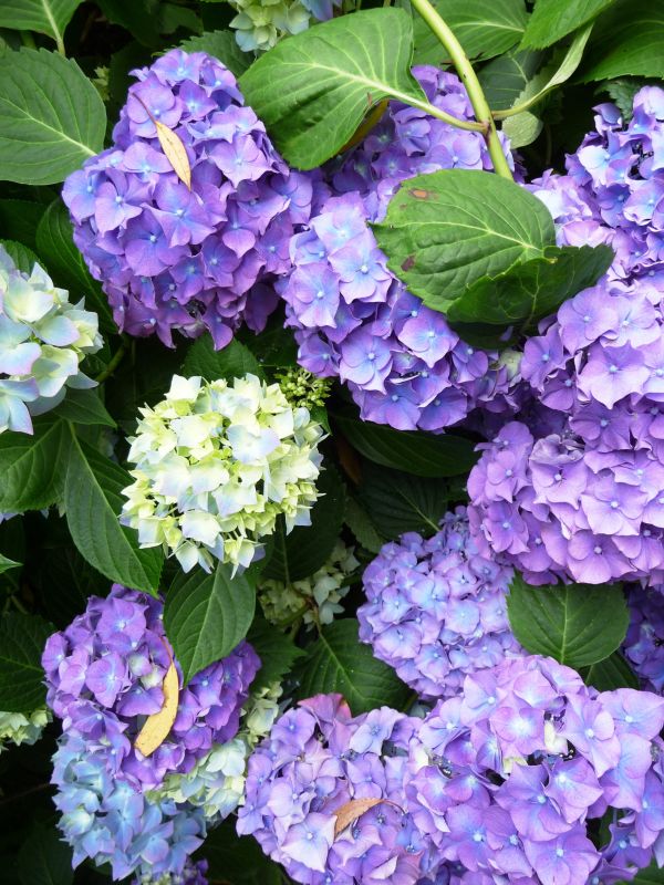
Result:
M436 106L471 117L455 76L433 67L414 72ZM298 361L315 375L345 382L365 420L439 431L479 404L504 407L507 365L463 342L443 314L407 292L370 229L404 179L489 164L478 133L393 102L343 166L330 170L333 196L291 240L292 272L278 290Z

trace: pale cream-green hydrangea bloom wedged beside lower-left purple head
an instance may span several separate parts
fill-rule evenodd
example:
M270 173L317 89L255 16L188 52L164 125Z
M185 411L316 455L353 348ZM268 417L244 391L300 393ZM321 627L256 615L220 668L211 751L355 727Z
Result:
M280 696L278 684L251 695L242 710L238 736L212 747L186 774L169 774L149 796L189 802L204 810L208 823L227 818L242 801L247 759L277 720Z

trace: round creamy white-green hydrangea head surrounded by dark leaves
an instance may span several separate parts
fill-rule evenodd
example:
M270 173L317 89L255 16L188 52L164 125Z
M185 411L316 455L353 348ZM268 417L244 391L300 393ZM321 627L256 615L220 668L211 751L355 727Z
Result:
M163 545L185 572L197 563L209 572L215 560L237 568L260 558L280 516L287 531L310 524L323 429L278 384L175 375L141 414L121 521L142 546Z

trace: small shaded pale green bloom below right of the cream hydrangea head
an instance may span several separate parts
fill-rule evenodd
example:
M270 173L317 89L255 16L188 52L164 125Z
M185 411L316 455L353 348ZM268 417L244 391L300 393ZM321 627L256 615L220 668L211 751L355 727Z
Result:
M304 610L304 624L331 624L343 611L340 602L349 592L347 577L359 566L354 549L340 540L328 562L309 577L291 584L261 582L259 598L266 617L272 624L283 624Z

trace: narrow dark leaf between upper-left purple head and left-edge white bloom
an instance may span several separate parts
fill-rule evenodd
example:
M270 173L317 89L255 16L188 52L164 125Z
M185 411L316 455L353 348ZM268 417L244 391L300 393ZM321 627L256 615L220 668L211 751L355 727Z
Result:
M69 290L70 300L76 303L84 298L87 310L98 314L101 327L117 332L106 295L91 277L83 256L74 246L72 222L65 205L59 198L53 200L39 222L37 250L53 281Z

